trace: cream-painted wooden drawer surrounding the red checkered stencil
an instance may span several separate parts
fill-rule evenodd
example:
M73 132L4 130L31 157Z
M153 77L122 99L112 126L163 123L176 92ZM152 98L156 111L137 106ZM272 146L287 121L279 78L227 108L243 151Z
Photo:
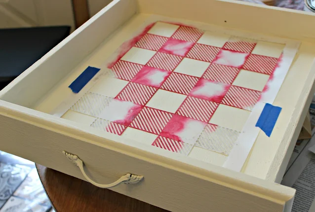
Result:
M218 156L197 160L50 114L87 66L102 67L151 14L301 41L274 101L274 132L259 133L240 172L216 166ZM315 92L314 22L312 13L231 0L114 0L0 91L0 149L86 180L70 152L98 183L144 176L111 189L170 211L288 212L295 190L277 183Z

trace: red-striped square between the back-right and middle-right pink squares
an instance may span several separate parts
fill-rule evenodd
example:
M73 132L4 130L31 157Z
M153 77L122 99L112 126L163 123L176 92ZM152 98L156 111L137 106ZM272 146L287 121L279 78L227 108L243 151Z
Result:
M238 72L237 68L213 63L204 72L202 78L232 84Z

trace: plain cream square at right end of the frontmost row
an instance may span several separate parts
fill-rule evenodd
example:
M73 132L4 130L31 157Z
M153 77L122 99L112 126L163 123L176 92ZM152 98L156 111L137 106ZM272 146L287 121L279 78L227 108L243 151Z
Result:
M197 160L201 160L207 163L211 163L216 166L223 166L224 162L227 159L226 155L208 149L200 148L197 146L193 147L188 157L195 158Z

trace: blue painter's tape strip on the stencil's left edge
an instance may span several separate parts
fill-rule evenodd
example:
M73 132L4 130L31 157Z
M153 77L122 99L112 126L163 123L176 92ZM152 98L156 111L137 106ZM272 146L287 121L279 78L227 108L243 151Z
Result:
M100 71L98 68L94 67L87 67L79 76L78 78L69 85L72 92L79 93L79 91L88 83L95 74Z

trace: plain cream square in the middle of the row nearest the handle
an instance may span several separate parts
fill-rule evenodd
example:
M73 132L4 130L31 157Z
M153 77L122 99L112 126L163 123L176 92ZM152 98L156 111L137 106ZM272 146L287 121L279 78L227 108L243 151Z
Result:
M124 137L126 139L131 139L149 144L151 145L157 138L157 135L154 135L152 133L144 132L142 130L137 130L132 127L127 127L125 131L121 134L121 137Z

